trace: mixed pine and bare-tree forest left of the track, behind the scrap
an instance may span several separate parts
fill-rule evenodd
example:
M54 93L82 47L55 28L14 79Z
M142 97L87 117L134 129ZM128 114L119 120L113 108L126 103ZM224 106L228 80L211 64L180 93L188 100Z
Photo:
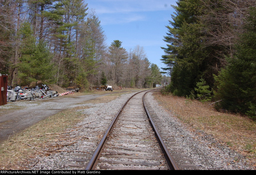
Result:
M110 46L100 20L84 0L1 0L0 73L12 86L110 85L147 88L162 74L142 46ZM166 76L165 76L166 79ZM33 84L34 86L34 84Z

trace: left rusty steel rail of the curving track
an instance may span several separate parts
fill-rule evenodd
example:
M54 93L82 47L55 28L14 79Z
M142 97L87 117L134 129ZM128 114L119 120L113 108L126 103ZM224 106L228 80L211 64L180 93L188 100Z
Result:
M143 90L143 91L147 91L147 90ZM143 92L143 91L140 91L140 92ZM138 93L140 93L138 92ZM134 94L133 96L137 95L138 93ZM96 148L96 150L94 151L94 154L92 155L92 158L90 159L89 163L87 164L86 166L86 170L94 170L96 165L97 165L97 162L99 161L99 158L100 158L100 154L102 153L102 148L104 147L105 145L105 142L108 138L108 135L109 133L111 132L115 122L117 121L120 113L122 112L122 110L124 109L124 107L126 106L127 102L133 97L131 96L124 104L123 106L121 107L121 109L118 111L118 113L116 114L115 118L113 119L113 121L111 122L109 128L106 130L103 138L101 139L98 147Z

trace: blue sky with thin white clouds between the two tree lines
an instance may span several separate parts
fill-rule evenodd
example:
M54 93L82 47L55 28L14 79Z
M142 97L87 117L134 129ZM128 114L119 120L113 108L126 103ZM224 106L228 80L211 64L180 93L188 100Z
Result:
M94 9L107 37L106 44L122 41L127 51L136 45L144 47L148 60L159 68L166 46L166 36L176 0L86 0L89 9Z

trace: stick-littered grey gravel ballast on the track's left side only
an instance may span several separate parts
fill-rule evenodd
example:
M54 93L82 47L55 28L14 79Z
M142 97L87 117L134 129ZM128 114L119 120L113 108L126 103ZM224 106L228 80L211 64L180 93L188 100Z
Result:
M129 99L136 92L130 94L123 94L115 100L107 103L99 104L83 104L89 107L88 109L80 110L83 114L87 115L84 121L77 123L74 128L69 130L76 130L69 133L69 138L74 139L76 142L70 146L62 147L52 153L50 156L38 155L30 162L29 169L42 169L42 170L72 170L84 169L87 162L89 162L95 149L97 148L105 131L108 129L110 123L114 119L116 113L122 107L123 103ZM91 122L91 123L88 123ZM63 139L62 139L63 140ZM52 145L65 145L65 141L51 143ZM53 154L54 153L54 154Z

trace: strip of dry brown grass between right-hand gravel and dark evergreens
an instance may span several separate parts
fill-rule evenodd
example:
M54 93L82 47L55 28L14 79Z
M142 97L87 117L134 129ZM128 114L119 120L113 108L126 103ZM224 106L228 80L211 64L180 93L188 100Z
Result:
M218 112L209 104L197 100L163 96L160 92L154 92L154 97L193 129L204 130L221 144L252 157L256 162L255 121L240 115Z

